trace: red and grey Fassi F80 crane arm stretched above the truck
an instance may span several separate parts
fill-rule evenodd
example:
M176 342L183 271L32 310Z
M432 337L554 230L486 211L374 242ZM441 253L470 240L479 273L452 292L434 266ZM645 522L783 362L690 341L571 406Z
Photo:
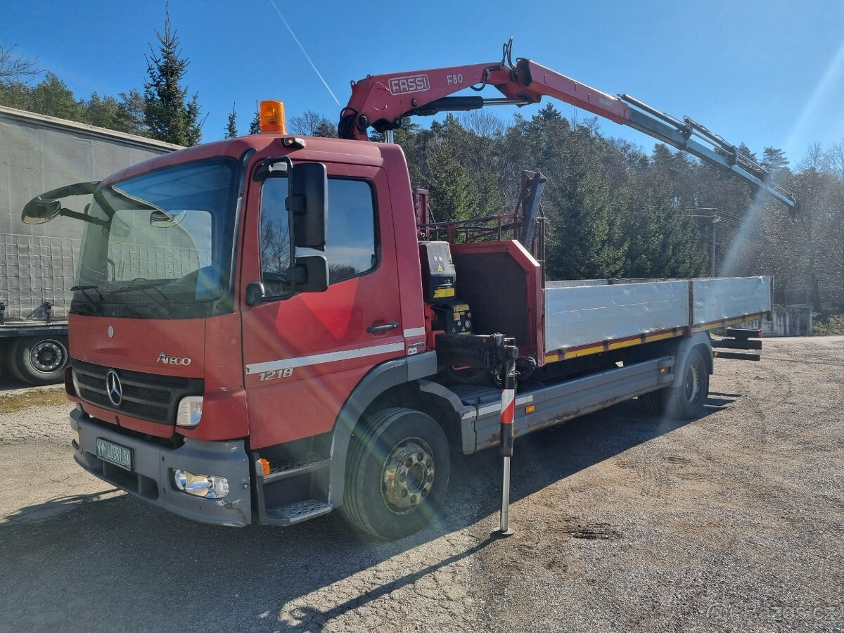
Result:
M764 168L688 116L679 121L630 95L608 95L529 59L520 57L513 64L511 46L512 38L504 45L500 62L370 75L353 82L349 103L340 112L339 137L366 140L369 127L378 132L396 129L406 116L484 106L527 106L549 96L633 127L706 163L732 171L787 207L797 207L794 197L776 186ZM504 97L449 96L467 88L480 91L487 85L494 86Z

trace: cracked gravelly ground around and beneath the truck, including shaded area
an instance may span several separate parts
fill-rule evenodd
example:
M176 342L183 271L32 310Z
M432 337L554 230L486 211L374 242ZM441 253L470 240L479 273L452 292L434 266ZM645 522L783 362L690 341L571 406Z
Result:
M495 452L396 543L208 527L79 469L50 389L6 392L0 629L844 631L844 338L765 347L717 361L701 419L622 403L520 438L505 540Z

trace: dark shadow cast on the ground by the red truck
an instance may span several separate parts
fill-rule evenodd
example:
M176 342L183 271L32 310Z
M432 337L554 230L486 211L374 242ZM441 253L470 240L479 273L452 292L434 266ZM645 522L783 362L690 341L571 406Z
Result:
M511 498L685 424L649 419L629 402L519 438ZM145 630L321 630L493 542L497 451L456 455L449 487L434 525L392 543L360 536L338 513L284 529L238 530L189 522L108 491L24 507L0 523L0 591L14 605L0 606L0 621L28 628L38 614L45 627L96 630L111 628L119 613L123 625ZM441 537L445 544L418 550ZM340 581L343 587L333 587ZM61 600L45 602L45 595Z

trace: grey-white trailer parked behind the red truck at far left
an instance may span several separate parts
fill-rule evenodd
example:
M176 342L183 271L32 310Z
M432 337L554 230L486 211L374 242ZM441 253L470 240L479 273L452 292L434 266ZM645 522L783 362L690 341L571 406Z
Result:
M0 106L0 374L46 384L68 361L68 308L83 223L21 222L24 204L177 145ZM86 197L68 200L82 211Z

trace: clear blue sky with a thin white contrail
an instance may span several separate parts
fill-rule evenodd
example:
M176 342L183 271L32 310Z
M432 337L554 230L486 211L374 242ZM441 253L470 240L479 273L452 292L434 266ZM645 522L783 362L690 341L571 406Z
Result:
M512 35L515 56L689 115L757 153L772 145L797 163L810 143L844 140L841 2L275 2L343 104L350 79L497 61ZM0 0L0 42L37 57L77 96L116 95L142 88L143 53L163 27L164 4ZM288 116L310 109L337 119L339 107L270 0L173 0L170 15L191 58L187 84L208 114L204 140L223 136L233 103L241 133L261 99L284 100ZM652 145L613 123L601 128Z

